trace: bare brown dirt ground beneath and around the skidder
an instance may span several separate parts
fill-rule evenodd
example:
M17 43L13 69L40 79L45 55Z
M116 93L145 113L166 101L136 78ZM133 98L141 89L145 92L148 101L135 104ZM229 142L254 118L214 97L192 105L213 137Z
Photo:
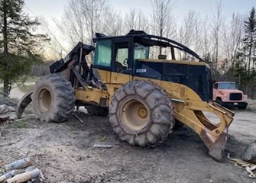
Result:
M173 130L156 148L129 146L112 132L108 117L80 113L63 124L41 123L26 110L24 120L0 124L0 160L29 157L45 182L223 182L255 183L227 159L216 162L196 133ZM235 110L225 153L239 158L256 139L256 114ZM110 149L93 147L111 144Z

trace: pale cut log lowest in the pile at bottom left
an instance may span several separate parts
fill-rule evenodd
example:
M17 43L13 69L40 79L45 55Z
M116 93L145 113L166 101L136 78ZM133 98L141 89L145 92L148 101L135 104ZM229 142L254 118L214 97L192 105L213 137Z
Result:
M25 181L29 181L32 178L37 178L41 175L41 171L39 169L34 169L31 172L24 172L23 174L15 175L15 177L8 179L7 183L21 183Z

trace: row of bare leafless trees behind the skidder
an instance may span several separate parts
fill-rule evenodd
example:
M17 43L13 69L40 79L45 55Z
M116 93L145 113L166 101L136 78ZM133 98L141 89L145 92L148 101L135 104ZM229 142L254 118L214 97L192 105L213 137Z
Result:
M227 18L223 14L222 1L219 1L214 14L203 17L196 11L188 11L183 20L177 22L175 0L151 0L151 6L152 12L148 14L140 8L121 14L108 0L69 0L62 20L54 21L62 36L51 34L52 56L59 58L56 53L60 50L67 53L77 41L93 44L96 32L115 36L127 34L131 29L144 30L147 34L178 40L190 47L209 64L215 80L235 80L251 98L256 98L254 7L248 14L234 12ZM50 31L49 26L45 27ZM186 53L177 54L179 59L191 59Z

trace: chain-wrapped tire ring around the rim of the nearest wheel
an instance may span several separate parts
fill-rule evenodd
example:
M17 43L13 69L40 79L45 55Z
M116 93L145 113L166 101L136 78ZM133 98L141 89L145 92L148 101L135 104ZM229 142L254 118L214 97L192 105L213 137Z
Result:
M126 127L120 116L122 106L134 98L143 101L149 113L147 125L137 131ZM167 139L173 128L173 105L159 85L145 80L133 80L118 88L112 96L109 120L119 138L131 146L158 146Z

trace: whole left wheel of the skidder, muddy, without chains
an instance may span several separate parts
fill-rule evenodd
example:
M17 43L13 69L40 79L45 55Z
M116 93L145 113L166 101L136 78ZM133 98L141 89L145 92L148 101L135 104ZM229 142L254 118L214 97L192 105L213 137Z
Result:
M65 121L72 113L76 101L71 83L58 74L39 79L31 98L37 118L47 122Z

